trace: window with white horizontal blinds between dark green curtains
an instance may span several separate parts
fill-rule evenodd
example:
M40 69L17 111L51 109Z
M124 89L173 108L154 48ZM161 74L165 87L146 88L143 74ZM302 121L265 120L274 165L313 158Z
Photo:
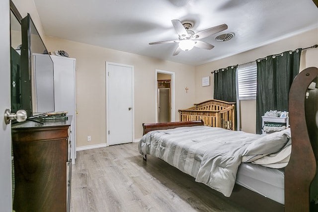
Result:
M256 99L256 62L238 66L239 100Z

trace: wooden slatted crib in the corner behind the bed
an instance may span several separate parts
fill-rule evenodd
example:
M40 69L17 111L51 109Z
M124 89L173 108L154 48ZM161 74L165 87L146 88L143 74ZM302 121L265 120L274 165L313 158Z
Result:
M185 110L178 110L180 121L203 120L205 126L235 130L235 102L207 100Z

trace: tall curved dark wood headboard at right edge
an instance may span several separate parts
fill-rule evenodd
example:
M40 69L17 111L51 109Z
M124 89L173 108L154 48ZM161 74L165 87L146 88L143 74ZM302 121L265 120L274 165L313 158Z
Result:
M285 168L285 211L318 211L318 69L300 72L289 92L292 153ZM308 89L312 81L316 87ZM308 95L306 95L308 93Z

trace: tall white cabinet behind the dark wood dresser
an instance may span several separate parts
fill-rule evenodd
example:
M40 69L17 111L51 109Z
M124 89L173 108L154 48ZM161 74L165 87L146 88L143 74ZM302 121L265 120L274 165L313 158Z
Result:
M76 59L52 55L54 63L54 103L55 111L68 111L73 116L71 124L72 163L76 158L76 101L75 71Z

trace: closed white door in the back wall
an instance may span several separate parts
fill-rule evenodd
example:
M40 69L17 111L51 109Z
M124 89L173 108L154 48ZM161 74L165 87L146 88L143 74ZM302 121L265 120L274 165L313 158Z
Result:
M106 140L133 142L134 67L106 62Z

